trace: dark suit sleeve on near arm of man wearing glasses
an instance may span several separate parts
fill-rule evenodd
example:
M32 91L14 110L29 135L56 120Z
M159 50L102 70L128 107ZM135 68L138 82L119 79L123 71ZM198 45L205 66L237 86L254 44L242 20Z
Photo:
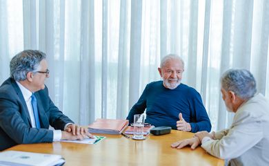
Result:
M0 127L17 144L52 142L53 132L49 129L31 128L26 122L26 111L18 98L2 93L0 98Z

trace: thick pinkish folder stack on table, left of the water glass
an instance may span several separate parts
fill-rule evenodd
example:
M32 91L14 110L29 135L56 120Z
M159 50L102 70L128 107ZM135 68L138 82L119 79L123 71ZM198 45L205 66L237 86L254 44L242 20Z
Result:
M128 124L128 120L97 119L88 129L90 133L120 134Z

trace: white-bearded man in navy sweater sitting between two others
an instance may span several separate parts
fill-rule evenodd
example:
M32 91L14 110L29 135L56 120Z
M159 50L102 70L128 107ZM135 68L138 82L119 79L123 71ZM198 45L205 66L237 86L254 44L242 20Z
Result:
M210 131L211 124L201 100L192 87L181 83L184 62L178 55L167 55L158 68L162 81L150 82L127 119L134 121L135 114L146 109L146 122L169 126L181 131Z

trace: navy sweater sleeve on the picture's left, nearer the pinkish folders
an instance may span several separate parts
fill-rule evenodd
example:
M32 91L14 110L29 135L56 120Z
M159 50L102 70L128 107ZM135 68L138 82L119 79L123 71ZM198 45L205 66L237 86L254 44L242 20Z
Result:
M137 103L132 107L132 109L130 110L128 116L127 116L127 120L129 120L130 123L134 122L134 115L135 114L141 114L145 111L146 109L146 97L147 97L147 93L148 93L148 85L146 86L146 88L144 89L142 95L140 96L139 100L137 101Z

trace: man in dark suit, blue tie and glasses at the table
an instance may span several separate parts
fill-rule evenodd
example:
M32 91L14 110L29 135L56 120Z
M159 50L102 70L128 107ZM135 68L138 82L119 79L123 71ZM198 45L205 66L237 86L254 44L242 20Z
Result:
M46 55L23 50L10 62L10 78L0 86L0 150L18 144L92 138L53 104L44 82ZM50 130L49 125L55 130Z

